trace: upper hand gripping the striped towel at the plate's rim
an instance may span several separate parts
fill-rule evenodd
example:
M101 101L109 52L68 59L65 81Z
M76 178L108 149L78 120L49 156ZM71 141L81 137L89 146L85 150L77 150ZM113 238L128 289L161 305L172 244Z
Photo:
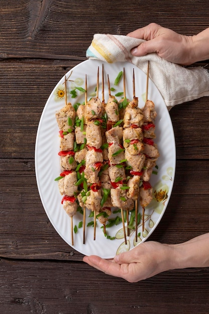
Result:
M127 36L146 40L131 50L134 56L156 52L161 58L181 65L189 65L196 61L195 36L180 35L156 23L135 30Z

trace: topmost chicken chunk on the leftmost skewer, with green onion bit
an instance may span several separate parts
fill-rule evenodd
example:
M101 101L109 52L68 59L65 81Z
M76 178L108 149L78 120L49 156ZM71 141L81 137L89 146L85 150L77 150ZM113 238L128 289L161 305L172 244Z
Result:
M76 111L69 102L65 107L56 112L57 124L60 130L67 132L69 128L74 129Z

